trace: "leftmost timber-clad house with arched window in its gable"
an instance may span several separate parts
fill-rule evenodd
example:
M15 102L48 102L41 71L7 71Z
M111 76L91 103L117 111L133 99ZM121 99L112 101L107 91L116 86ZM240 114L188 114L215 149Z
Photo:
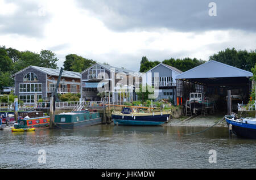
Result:
M55 91L58 69L28 66L11 75L15 83L15 96L24 104L34 104L35 94L37 100L51 97ZM63 71L57 93L80 93L80 73Z

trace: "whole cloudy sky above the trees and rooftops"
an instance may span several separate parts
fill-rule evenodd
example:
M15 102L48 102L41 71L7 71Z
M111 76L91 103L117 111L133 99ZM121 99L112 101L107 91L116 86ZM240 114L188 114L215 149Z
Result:
M0 46L138 71L150 61L255 50L254 0L0 0Z

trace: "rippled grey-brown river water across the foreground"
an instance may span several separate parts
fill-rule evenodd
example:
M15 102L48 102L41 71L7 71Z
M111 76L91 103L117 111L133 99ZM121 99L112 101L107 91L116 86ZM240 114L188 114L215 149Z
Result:
M0 168L256 168L256 140L229 136L228 127L184 135L203 129L97 125L4 130L0 131ZM46 158L38 154L40 149ZM209 154L211 149L216 154ZM216 163L210 163L209 157ZM46 163L39 163L44 159Z

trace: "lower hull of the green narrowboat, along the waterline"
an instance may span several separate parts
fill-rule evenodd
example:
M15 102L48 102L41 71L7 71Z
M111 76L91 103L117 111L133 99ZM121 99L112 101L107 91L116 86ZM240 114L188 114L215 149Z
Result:
M89 119L80 122L70 122L70 123L55 123L56 128L61 129L73 129L77 127L86 127L101 124L101 118Z

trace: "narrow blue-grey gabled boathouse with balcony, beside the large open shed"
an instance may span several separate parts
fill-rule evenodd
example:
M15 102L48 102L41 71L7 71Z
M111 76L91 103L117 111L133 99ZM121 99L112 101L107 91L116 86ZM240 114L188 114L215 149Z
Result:
M151 75L147 75L147 83L151 84L155 88L155 101L172 98L174 104L176 105L176 76L181 74L182 71L178 70L175 67L160 63L157 66L151 68L146 72L148 74L151 72ZM156 77L156 74L158 76Z

